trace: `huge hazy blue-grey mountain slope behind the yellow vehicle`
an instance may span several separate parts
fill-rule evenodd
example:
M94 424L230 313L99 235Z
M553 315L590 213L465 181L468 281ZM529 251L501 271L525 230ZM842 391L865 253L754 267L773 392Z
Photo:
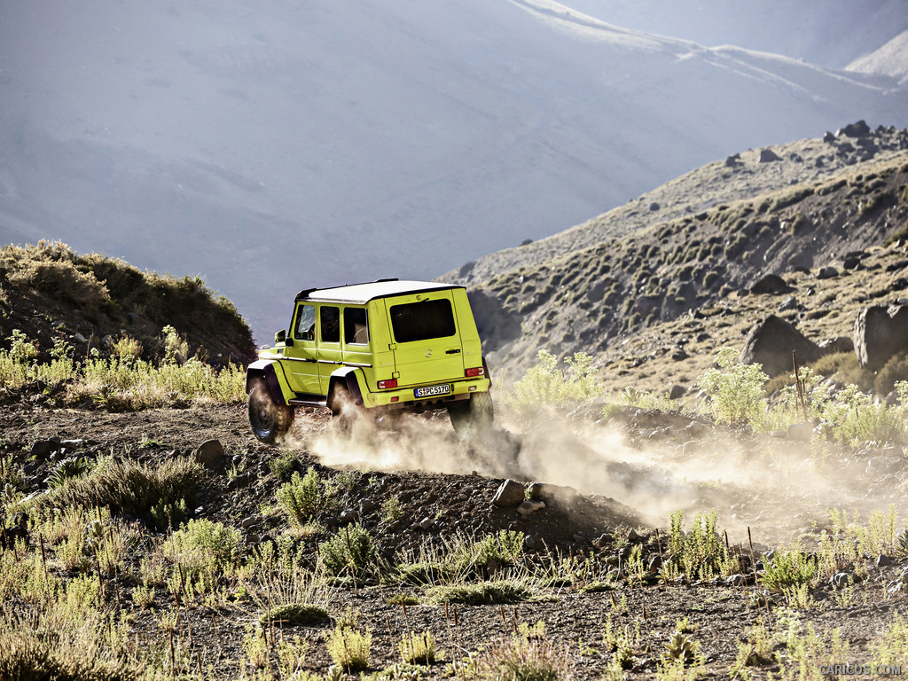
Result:
M893 82L394 0L0 7L0 236L189 271L260 338L304 285L430 277L768 140L908 124Z

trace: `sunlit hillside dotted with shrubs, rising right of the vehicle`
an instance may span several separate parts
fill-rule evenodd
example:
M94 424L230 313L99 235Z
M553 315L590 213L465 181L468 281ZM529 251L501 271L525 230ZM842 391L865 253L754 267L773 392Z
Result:
M542 349L620 353L656 322L743 297L765 274L813 271L815 280L827 265L847 273L847 256L860 261L903 238L908 132L828 139L712 163L568 232L451 273L474 291L489 361L518 375ZM868 148L880 151L859 160ZM777 160L760 163L765 152ZM836 331L847 333L844 323Z

